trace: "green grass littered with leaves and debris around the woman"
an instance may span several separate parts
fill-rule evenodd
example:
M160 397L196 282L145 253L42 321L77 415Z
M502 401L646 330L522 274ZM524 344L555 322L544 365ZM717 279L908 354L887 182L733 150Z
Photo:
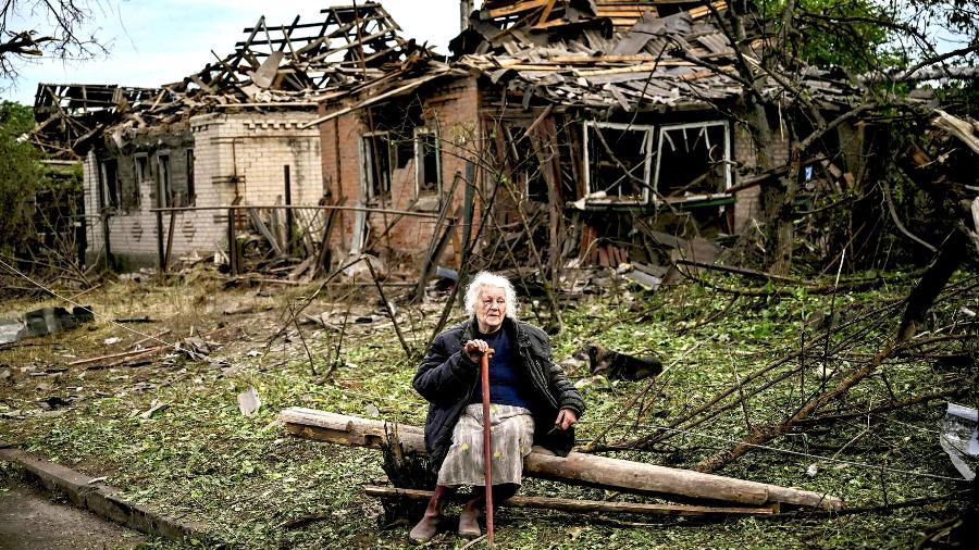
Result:
M348 327L340 353L343 365L332 379L325 379L322 373L329 368L325 358L327 348L336 345L335 333L311 324L302 326L319 374L312 373L295 328L287 334L287 342L267 345L269 335L283 322L286 304L299 301L311 287L275 288L272 296L259 296L253 288L225 290L206 272L185 277L107 285L86 295L85 301L110 318L150 315L154 323L136 328L147 334L171 329L168 341L187 336L191 327L196 333L216 330L208 337L220 342L211 358L225 360L230 368L161 355L139 366L89 371L69 366L54 372L73 358L124 350L141 338L104 320L73 332L25 340L0 350L0 371L12 373L7 382L0 382L0 438L90 475L108 475L109 483L123 488L134 500L160 505L177 517L209 523L215 539L231 547L407 546L408 527L382 528L380 503L359 490L360 485L384 477L380 453L295 439L275 423L281 409L309 407L423 424L425 403L410 384L417 360L405 357L373 289L354 289L357 293L346 300L351 304L351 320L371 315L374 321ZM715 280L726 286L743 285L736 278ZM887 287L835 297L804 290L780 298L741 297L733 305L730 296L707 285L689 283L648 293L620 284L615 292L567 302L567 326L554 340L555 357L565 358L585 342L597 341L627 353L655 352L670 365L664 376L666 389L650 393L657 396L654 402L647 399L642 403L642 416L630 413L603 440L615 443L654 433L656 426L694 410L741 377L797 350L804 340L815 341L826 329L807 326L814 313L829 312L832 307L842 312L841 318L859 318L902 297L913 283L899 277ZM339 324L345 305L334 300L349 290L325 292L308 312L332 311L330 321ZM413 320L402 329L413 328L407 332L416 348L420 349L431 334L442 299L420 309L401 308L401 318L410 315ZM939 303L932 327L954 322L963 300L975 303L975 291ZM252 311L224 315L228 303ZM10 314L53 304L59 303L53 299L21 299L0 304L0 311ZM523 316L533 317L529 311ZM832 341L842 342L847 337L853 341L827 366L846 373L862 364L893 333L894 317L884 317L877 325L867 322L840 328ZM103 343L113 336L122 341L112 347ZM749 432L749 426L778 422L786 411L797 408L800 389L810 395L822 384L827 371L819 359L807 357L805 379L793 376L776 384L748 400L744 409L733 407L671 438L656 452L612 454L690 467L729 448L730 441ZM593 378L585 371L571 372L588 403L579 426L581 445L605 430L623 404L648 384ZM944 387L965 388L961 396L965 402L976 400L975 393L968 393L969 387L975 392L975 378L937 370L933 360L897 357L879 371L830 409L901 400ZM975 377L975 367L970 376ZM252 417L241 415L236 404L236 396L249 386L262 400L260 412ZM52 396L71 404L45 410L40 401ZM166 407L144 417L141 413L154 401ZM854 508L882 504L884 491L890 503L950 493L963 485L864 465L955 477L938 441L943 414L944 402L934 401L887 415L811 426L770 446L837 461L755 450L720 473L827 491ZM813 464L815 476L807 475ZM0 468L0 476L10 475L14 474L9 468ZM624 498L537 479L528 479L522 492ZM506 510L497 515L496 541L500 548L903 548L913 546L929 525L955 515L962 505L956 497L852 515L711 521ZM287 521L308 514L325 518L297 528L283 527ZM458 548L461 543L449 534L430 546ZM186 546L193 543L146 545Z

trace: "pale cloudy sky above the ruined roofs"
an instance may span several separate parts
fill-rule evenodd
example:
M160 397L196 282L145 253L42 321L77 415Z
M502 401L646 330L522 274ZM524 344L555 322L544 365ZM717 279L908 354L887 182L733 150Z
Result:
M0 91L0 99L33 105L39 82L146 87L177 82L214 61L211 50L222 58L232 53L235 42L245 38L243 29L253 26L261 15L270 26L289 24L296 15L301 15L300 23L321 21L321 9L350 3L351 0L96 0L90 2L94 21L86 30L108 45L108 55L90 61L40 59L22 64L18 78ZM439 53L448 53L448 41L459 34L457 0L382 3L401 27L404 37L420 43L427 41ZM20 15L20 28L44 27L36 15Z

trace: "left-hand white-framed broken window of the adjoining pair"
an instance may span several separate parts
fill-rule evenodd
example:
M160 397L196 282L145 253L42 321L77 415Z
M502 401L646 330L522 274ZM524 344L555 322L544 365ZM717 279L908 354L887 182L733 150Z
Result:
M620 202L648 201L652 142L653 126L586 122L584 162L588 197Z

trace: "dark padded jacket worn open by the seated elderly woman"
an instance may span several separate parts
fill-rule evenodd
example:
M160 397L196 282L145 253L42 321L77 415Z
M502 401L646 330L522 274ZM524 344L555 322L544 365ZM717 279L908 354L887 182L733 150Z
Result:
M451 445L453 428L462 410L469 404L480 380L480 366L462 351L473 338L474 318L460 323L435 337L422 360L412 383L414 389L429 401L425 420L425 448L433 471L438 472ZM510 317L503 329L516 341L515 360L529 374L534 414L534 443L542 445L565 457L574 445L574 428L554 430L560 409L571 409L581 417L585 404L581 393L550 359L550 341L540 328Z

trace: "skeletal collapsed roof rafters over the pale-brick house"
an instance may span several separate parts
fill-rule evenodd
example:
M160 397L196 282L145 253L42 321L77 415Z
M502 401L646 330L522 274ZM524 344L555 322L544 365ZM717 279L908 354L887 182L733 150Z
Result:
M170 125L215 109L314 108L331 96L429 68L432 52L399 36L380 3L321 10L315 21L245 29L233 53L160 88L40 84L36 140L62 159L76 158L109 126L127 132ZM85 138L85 139L80 139Z

